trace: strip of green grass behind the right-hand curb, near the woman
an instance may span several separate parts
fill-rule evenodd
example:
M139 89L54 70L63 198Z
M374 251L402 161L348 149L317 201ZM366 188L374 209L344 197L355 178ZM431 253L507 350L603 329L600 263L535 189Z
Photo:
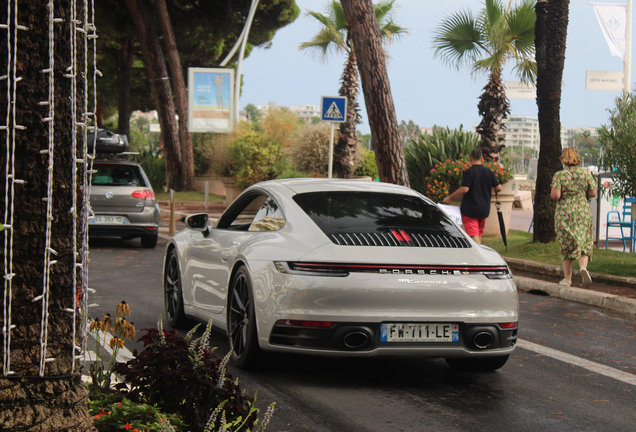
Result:
M561 248L557 241L548 244L532 243L532 233L517 230L509 230L507 240L508 251L506 251L503 240L499 237L484 237L482 243L493 248L504 257L561 265ZM578 269L578 262L574 261L573 266ZM591 272L596 273L636 277L636 253L595 247L592 253L592 261L590 261L587 268Z

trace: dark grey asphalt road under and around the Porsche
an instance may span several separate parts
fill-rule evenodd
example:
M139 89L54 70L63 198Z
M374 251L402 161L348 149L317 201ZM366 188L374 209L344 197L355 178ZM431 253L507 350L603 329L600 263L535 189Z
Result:
M163 311L166 241L91 239L91 310L130 304L138 334ZM277 402L268 432L635 431L636 322L602 309L520 294L519 346L493 373L460 373L434 359L265 358L231 369L260 407ZM211 341L217 355L225 337ZM127 348L141 349L139 343Z

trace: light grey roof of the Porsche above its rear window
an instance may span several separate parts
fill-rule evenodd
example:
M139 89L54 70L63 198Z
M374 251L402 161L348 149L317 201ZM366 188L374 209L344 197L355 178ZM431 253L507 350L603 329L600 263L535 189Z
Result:
M309 192L379 192L396 193L402 195L419 196L413 189L391 183L355 180L355 179L325 179L325 178L293 178L270 180L254 185L255 187L284 186L295 194Z

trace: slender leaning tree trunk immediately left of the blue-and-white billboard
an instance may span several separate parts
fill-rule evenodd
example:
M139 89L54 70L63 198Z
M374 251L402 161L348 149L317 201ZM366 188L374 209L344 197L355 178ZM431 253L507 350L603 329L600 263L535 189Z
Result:
M161 26L161 32L164 37L168 65L172 72L177 112L179 113L179 145L181 146L181 175L183 176L183 187L186 190L194 190L192 139L188 132L188 93L181 69L181 59L179 58L177 42L174 37L174 32L172 31L166 0L157 0L155 3L157 5L159 25Z

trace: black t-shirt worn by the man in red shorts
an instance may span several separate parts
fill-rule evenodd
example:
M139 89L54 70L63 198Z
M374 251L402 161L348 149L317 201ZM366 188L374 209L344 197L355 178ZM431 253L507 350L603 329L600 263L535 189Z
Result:
M492 188L499 186L495 174L483 165L473 165L464 171L462 186L468 187L468 192L462 198L461 213L473 218L488 217Z

